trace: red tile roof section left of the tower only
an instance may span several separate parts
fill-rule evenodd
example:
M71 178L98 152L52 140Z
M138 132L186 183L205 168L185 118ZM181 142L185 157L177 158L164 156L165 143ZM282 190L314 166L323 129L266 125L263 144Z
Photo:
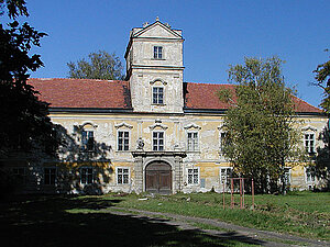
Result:
M29 83L51 108L131 108L128 81L33 78Z

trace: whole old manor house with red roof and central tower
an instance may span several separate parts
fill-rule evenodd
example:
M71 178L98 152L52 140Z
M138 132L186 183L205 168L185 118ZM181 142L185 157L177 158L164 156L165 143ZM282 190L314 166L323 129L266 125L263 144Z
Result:
M232 173L221 149L229 105L216 92L234 86L184 82L183 44L180 30L156 20L131 31L123 81L30 79L67 145L58 159L15 162L13 171L41 192L222 191ZM294 100L301 145L316 153L327 115ZM319 186L312 168L286 171L292 188Z

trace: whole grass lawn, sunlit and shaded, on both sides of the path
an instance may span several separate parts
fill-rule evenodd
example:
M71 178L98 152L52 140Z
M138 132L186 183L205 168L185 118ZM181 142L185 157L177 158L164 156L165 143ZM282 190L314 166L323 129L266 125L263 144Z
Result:
M222 209L218 193L147 197L24 195L0 202L0 237L7 246L246 246L260 244L224 233L213 237L196 229L166 225L166 218L148 221L105 213L111 206L220 218L244 226L330 239L330 193L299 192L288 195L256 195L255 211ZM239 198L235 199L239 202ZM228 207L230 198L227 195ZM207 227L207 226L206 226Z

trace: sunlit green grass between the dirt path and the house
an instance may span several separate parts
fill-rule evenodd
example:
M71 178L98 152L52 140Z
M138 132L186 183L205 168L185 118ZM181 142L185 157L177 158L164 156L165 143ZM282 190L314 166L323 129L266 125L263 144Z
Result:
M113 200L116 194L103 195L101 200ZM330 240L330 193L292 192L287 195L255 195L255 211L251 210L252 198L245 195L245 207L240 210L240 198L235 195L235 209L230 209L230 195L191 193L157 195L140 201L143 195L122 197L117 206L148 211L168 212L189 216L220 218L242 226L279 233L288 233L306 238Z

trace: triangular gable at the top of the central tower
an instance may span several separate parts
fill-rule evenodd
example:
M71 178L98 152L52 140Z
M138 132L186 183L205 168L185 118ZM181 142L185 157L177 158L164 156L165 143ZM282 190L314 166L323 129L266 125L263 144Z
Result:
M183 38L178 32L170 30L160 21L140 30L133 37L156 37L156 38Z

